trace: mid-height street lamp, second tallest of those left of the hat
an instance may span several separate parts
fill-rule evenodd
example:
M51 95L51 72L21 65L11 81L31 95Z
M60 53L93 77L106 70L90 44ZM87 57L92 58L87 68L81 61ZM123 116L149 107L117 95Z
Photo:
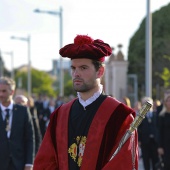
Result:
M15 37L12 36L11 39L26 41L28 44L28 77L27 77L27 91L28 96L31 96L31 59L30 59L30 36L28 37Z

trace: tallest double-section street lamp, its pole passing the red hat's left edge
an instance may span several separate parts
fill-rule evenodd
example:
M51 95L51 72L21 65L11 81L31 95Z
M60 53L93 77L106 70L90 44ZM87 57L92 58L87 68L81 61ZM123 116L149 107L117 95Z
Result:
M40 9L35 9L34 12L36 13L46 13L50 15L57 15L60 18L60 49L62 48L63 44L63 15L62 15L62 8L60 7L59 11L44 11ZM64 95L64 87L63 87L63 61L62 57L60 56L60 96Z

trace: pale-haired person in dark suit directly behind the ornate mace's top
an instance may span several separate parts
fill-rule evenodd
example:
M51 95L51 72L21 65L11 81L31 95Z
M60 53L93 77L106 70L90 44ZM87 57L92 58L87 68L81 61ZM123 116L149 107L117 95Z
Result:
M149 101L153 103L150 97L143 97L142 104ZM142 159L145 170L156 170L155 164L158 161L158 128L157 114L153 108L149 110L146 118L138 127L138 144L141 147Z

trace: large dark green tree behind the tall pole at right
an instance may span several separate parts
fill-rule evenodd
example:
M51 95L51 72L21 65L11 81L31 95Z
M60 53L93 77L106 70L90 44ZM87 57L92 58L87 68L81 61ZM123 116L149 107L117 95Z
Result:
M128 49L129 74L137 74L139 96L145 86L145 21L131 38ZM152 14L152 88L165 85L160 76L170 66L170 4ZM154 90L153 90L154 91ZM153 94L154 95L154 94Z

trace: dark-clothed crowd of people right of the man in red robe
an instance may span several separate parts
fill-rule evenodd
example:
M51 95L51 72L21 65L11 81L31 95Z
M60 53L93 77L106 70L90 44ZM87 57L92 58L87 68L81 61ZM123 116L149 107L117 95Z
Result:
M143 97L134 106L128 97L122 99L136 114L146 101L153 107L138 127L139 157L144 170L170 170L170 90L165 90L162 100Z

